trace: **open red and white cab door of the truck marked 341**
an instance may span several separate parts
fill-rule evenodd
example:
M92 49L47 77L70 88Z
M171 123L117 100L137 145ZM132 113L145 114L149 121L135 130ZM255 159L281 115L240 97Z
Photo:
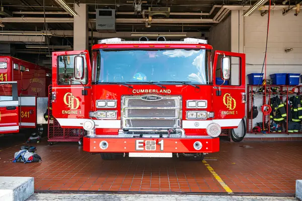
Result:
M19 132L17 82L0 82L0 134Z

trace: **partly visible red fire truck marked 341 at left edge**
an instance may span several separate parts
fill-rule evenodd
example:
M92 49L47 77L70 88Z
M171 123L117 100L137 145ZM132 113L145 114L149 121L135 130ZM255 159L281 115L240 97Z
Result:
M50 83L51 69L0 56L0 134L18 133L21 128L43 132Z

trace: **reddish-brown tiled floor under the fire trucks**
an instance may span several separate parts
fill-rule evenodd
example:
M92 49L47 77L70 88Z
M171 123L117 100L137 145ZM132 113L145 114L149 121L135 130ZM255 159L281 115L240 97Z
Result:
M33 176L36 190L226 192L205 164L181 158L104 161L77 143L35 145L40 163L11 163L23 138L0 138L0 176ZM221 142L206 162L234 192L294 193L302 142Z

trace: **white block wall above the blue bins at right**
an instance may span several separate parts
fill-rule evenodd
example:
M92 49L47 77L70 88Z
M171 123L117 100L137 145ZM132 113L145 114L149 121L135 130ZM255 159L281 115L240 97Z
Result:
M246 74L260 73L265 52L267 15L262 17L260 11L250 17L242 17L242 14L243 11L232 11L231 49L246 53ZM238 19L241 20L240 25ZM293 51L285 53L287 48L293 48ZM302 15L294 16L290 12L282 16L282 11L271 11L267 78L273 73L302 73Z

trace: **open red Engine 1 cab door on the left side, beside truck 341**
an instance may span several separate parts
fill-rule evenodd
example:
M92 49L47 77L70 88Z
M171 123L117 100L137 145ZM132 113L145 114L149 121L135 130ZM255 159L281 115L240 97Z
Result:
M83 65L81 78L78 78L81 72L76 67L79 62ZM91 65L88 51L53 52L53 117L63 128L83 128L84 120L89 118L90 102Z

